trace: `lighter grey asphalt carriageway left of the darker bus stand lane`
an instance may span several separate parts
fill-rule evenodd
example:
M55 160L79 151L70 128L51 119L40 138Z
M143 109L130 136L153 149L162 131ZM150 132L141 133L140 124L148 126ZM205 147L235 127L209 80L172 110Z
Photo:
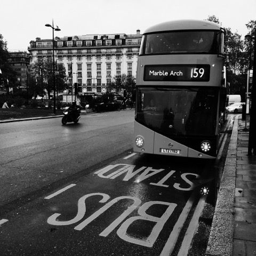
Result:
M77 124L61 125L61 118L1 124L0 212L131 149L133 122L134 110L126 110L82 115Z

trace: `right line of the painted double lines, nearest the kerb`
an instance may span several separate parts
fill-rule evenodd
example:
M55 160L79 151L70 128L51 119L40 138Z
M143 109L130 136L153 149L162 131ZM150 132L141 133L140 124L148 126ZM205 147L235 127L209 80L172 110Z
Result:
M193 239L196 229L198 227L199 217L204 209L205 199L206 199L206 196L202 196L199 199L199 202L196 206L196 210L195 210L194 215L189 223L188 229L183 238L183 241L182 241L182 244L180 247L180 251L177 256L187 256L188 255L188 250L189 250L190 244L192 242L192 239Z

